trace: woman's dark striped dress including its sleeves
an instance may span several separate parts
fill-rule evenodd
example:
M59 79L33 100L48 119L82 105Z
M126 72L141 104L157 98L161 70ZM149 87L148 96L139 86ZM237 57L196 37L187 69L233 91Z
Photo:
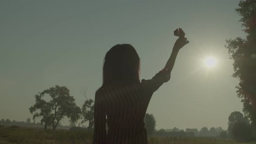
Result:
M169 81L170 74L168 69L163 69L152 79L142 79L138 84L98 89L92 144L148 144L144 116L151 96Z

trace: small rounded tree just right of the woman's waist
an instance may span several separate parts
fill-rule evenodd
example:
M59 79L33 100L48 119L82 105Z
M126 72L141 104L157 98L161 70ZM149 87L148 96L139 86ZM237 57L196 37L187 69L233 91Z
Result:
M148 134L152 134L155 131L156 121L153 114L146 114L144 117L144 123Z

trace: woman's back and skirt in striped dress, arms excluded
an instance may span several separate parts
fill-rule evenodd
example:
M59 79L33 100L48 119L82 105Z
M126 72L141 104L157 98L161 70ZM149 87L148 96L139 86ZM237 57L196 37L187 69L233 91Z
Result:
M147 144L144 124L151 93L141 84L102 88L111 144Z

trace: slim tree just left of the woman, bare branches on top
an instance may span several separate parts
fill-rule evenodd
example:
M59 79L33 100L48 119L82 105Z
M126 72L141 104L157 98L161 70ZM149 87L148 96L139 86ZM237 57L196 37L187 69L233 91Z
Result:
M82 105L82 122L85 123L89 121L88 128L93 128L94 125L94 101L92 99L88 99L86 96L86 91L81 92L83 96L85 96L86 100Z

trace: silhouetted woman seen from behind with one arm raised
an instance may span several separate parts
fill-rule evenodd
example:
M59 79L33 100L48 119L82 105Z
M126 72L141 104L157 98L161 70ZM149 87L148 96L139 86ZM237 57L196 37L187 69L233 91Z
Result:
M144 124L148 103L153 93L169 81L176 56L187 43L187 38L178 38L164 69L141 82L140 58L133 46L118 44L106 53L103 84L95 93L92 144L148 144Z

